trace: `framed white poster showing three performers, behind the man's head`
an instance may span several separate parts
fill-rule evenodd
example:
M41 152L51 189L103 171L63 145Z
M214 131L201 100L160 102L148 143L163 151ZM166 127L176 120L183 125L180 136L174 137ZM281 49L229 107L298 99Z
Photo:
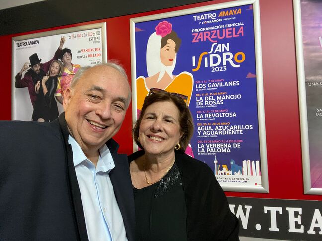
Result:
M14 37L12 57L12 120L52 121L78 69L107 61L106 23Z

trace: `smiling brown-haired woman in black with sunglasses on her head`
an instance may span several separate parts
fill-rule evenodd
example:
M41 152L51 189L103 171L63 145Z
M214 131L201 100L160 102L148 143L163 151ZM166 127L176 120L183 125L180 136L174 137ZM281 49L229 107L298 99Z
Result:
M134 126L142 149L129 156L138 241L239 240L212 170L184 154L193 133L187 96L150 90Z

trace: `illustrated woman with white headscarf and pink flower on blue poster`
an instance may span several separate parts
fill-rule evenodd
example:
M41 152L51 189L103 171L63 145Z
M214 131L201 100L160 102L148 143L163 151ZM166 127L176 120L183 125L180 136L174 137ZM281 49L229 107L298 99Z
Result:
M147 72L148 76L137 78L137 109L140 112L144 97L151 87L156 87L169 92L180 92L188 96L189 105L192 90L193 76L191 73L182 72L173 75L176 64L176 54L181 45L181 39L172 30L172 24L162 21L156 26L156 31L149 37L147 44Z

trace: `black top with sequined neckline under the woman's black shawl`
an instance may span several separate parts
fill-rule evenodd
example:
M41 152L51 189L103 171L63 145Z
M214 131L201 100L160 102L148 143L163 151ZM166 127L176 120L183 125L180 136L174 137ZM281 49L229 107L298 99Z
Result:
M176 162L160 181L133 190L137 241L187 241L187 211Z

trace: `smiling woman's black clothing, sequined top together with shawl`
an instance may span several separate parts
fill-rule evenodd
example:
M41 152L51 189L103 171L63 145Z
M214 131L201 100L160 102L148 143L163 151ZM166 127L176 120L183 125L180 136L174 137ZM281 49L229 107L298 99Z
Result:
M160 181L134 195L137 241L239 241L238 219L213 171L181 151Z

